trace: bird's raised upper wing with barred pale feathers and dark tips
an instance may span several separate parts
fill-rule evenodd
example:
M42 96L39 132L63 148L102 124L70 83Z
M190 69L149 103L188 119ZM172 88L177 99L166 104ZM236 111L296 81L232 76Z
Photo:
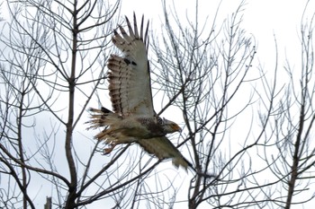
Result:
M136 15L132 29L126 17L129 33L119 26L121 34L114 30L113 44L123 57L111 55L108 60L109 91L112 109L121 116L155 115L148 65L148 25L143 34L143 16L138 31Z

